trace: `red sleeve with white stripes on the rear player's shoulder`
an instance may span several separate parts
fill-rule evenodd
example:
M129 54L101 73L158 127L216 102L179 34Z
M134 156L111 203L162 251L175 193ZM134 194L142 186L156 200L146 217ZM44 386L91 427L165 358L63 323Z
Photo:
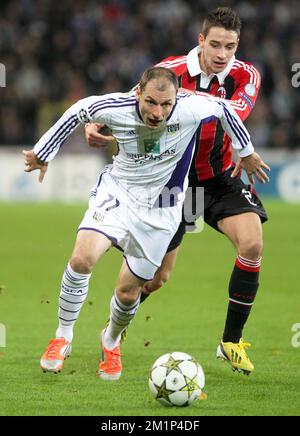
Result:
M244 121L255 106L261 85L261 76L251 64L244 64L235 74L238 86L228 102L240 119Z

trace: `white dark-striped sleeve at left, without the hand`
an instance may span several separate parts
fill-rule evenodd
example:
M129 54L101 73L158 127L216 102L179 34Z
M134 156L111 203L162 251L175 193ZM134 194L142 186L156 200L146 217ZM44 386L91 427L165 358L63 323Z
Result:
M38 159L51 161L79 124L107 124L108 99L108 96L92 96L73 104L35 144L33 150Z

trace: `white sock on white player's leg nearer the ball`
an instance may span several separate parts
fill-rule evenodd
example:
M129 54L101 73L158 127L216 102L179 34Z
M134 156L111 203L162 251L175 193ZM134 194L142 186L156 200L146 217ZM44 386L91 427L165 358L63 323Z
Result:
M104 346L108 350L119 345L121 333L130 324L140 305L140 296L131 306L121 303L116 293L110 302L110 318L104 334Z

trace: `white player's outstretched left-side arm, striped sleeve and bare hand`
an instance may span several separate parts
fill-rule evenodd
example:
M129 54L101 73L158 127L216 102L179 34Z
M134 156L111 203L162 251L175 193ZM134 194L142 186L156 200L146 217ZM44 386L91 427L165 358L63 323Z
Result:
M40 170L42 182L50 162L60 147L79 124L89 122L106 123L105 114L95 110L105 101L105 96L87 97L71 106L62 117L36 143L32 150L23 150L25 172Z

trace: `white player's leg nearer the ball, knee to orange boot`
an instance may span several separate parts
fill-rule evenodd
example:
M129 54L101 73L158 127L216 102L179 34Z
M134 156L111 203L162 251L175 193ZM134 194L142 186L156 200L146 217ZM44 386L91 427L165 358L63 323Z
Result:
M103 380L118 380L121 376L121 335L139 308L144 283L145 280L135 276L124 261L110 302L109 322L101 335L102 356L98 374Z

